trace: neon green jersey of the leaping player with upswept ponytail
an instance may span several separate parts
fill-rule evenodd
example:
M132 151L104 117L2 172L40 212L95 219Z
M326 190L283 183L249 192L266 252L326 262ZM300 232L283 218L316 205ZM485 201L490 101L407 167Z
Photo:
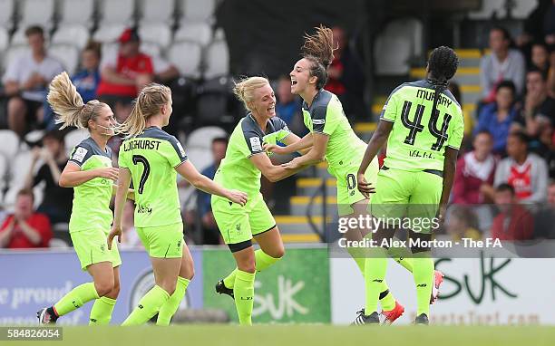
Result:
M366 143L356 136L336 95L323 89L318 91L310 107L303 102L303 118L310 132L329 136L326 160L330 173L360 165Z

